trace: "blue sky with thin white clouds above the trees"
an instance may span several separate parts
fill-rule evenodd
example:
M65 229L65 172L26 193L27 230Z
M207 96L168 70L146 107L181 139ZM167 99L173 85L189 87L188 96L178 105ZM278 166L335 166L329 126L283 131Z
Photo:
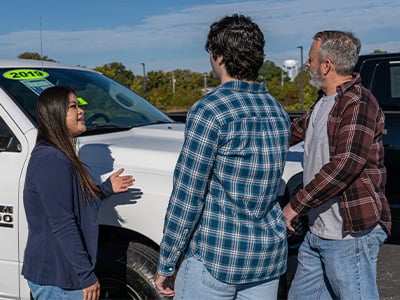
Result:
M266 59L277 65L300 60L300 45L307 59L313 34L324 29L353 31L362 54L399 52L399 12L397 0L2 0L0 58L43 49L62 63L120 62L139 75L141 63L146 71L208 72L209 25L232 13L260 26Z

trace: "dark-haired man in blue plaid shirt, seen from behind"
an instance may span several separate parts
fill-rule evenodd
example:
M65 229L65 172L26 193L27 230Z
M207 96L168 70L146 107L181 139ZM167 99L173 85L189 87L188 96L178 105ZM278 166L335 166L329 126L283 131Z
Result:
M206 50L221 84L188 112L156 287L174 299L276 299L287 259L277 193L290 120L255 82L264 36L250 18L212 24Z

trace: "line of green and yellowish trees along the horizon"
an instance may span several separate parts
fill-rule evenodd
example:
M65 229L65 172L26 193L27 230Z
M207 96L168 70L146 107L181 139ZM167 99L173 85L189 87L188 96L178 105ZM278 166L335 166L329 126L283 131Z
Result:
M375 50L374 53L384 53ZM36 52L24 52L18 56L23 59L55 61ZM257 81L264 82L273 95L288 111L309 108L316 100L317 89L310 85L307 74L298 72L291 80L287 72L266 60L260 69ZM94 70L123 84L144 97L155 107L164 112L187 111L211 88L218 86L212 72L199 73L176 69L170 72L149 71L135 75L120 62L111 62ZM304 75L304 76L303 76ZM303 94L302 94L303 93ZM303 101L302 101L303 98Z

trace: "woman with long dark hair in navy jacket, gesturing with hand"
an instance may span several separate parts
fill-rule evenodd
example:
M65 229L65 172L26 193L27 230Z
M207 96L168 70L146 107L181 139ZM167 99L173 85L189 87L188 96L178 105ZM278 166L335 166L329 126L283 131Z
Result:
M24 187L29 233L22 274L34 299L95 300L96 202L127 191L134 178L119 169L100 186L94 183L76 154L74 138L86 126L74 90L43 91L37 121Z

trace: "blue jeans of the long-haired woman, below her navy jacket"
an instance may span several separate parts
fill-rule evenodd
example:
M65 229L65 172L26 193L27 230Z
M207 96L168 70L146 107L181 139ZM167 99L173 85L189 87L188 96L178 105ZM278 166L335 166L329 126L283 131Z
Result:
M39 285L28 281L33 299L35 300L82 300L83 290L64 290L52 285Z

